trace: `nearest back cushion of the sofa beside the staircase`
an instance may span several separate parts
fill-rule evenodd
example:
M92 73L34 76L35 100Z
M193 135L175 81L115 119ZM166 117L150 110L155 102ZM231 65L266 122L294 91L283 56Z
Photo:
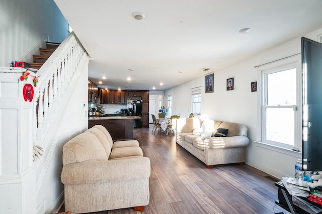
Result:
M90 132L84 132L69 140L62 151L63 165L86 160L108 160L100 140Z

